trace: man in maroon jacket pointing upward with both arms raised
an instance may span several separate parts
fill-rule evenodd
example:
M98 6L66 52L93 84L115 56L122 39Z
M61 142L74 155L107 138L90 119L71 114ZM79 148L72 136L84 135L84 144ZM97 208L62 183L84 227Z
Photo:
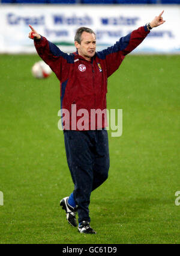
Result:
M89 225L90 196L107 179L109 171L106 113L101 114L101 122L98 122L98 116L92 118L92 110L106 110L107 78L152 28L165 22L163 12L151 23L121 37L115 45L100 52L96 52L94 31L79 28L74 38L77 51L70 55L40 36L29 25L29 38L34 39L38 54L61 81L61 110L69 113L62 118L62 127L74 191L63 198L60 205L72 226L77 226L78 212L80 233L96 234Z

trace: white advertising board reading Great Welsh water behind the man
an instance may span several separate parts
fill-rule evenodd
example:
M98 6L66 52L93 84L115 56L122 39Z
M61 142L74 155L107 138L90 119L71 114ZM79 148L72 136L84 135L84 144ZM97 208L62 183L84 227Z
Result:
M133 52L180 53L179 5L0 5L0 53L35 52L29 24L65 52L75 51L77 28L89 27L97 35L97 50L104 49L161 10L166 22Z

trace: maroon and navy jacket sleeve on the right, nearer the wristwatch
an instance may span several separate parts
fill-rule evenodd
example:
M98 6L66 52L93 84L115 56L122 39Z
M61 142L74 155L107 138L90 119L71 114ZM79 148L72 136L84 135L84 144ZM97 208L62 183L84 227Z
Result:
M125 55L140 45L148 34L149 30L146 26L140 27L127 36L121 37L115 45L98 52L100 58L106 60L107 77L118 69Z

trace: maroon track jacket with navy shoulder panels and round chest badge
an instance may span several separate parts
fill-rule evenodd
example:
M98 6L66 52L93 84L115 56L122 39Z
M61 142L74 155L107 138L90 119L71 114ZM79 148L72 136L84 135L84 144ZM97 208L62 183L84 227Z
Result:
M96 52L91 61L85 60L77 52L62 52L45 37L34 40L38 55L61 81L64 130L97 130L107 126L106 114L99 113L101 122L98 123L98 113L94 120L91 111L106 109L107 78L118 69L125 55L133 51L148 33L146 26L140 27L121 37L115 45ZM64 110L68 110L69 116Z

